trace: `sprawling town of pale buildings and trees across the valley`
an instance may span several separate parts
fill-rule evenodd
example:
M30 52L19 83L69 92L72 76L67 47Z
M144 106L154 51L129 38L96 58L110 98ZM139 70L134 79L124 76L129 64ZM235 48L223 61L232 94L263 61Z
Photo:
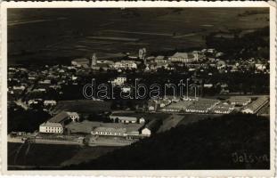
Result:
M269 117L269 86L245 87L233 81L241 75L263 78L269 73L267 59L229 61L216 49L154 56L142 48L118 58L98 59L94 53L68 65L10 66L8 108L40 110L48 117L34 132L11 130L8 142L126 146L188 124L186 117ZM99 83L97 93L86 90L92 80L94 86L95 80ZM176 87L180 81L184 91ZM134 88L134 82L141 87ZM160 87L166 83L171 85ZM145 89L154 89L153 84L156 90ZM132 93L139 98L134 100Z

